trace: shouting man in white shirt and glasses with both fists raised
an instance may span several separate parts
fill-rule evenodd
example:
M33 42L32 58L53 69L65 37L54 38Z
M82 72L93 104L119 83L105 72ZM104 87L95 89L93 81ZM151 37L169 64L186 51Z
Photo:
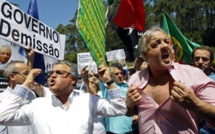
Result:
M110 81L106 68L99 68L101 77ZM37 98L23 104L34 78L41 73L32 69L22 85L0 104L0 124L32 125L35 134L91 134L94 117L118 116L126 113L124 98L114 85L109 85L110 100L73 90L77 81L76 68L66 62L56 63L49 79L50 97Z

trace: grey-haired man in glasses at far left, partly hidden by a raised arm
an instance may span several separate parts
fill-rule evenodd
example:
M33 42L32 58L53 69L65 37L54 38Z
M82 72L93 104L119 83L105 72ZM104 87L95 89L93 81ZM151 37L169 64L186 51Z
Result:
M4 69L4 78L8 81L8 86L4 92L0 93L0 103L5 98L9 97L13 89L17 84L22 84L30 68L32 67L32 62L34 60L34 50L29 48L26 49L28 65L23 61L11 61L6 65ZM36 98L36 95L33 91L30 91L28 96L25 98L25 103L31 102ZM0 126L0 134L32 134L31 126Z

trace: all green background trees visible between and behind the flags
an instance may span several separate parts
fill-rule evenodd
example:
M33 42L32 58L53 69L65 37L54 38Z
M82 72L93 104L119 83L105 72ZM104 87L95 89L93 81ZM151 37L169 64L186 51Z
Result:
M108 16L116 10L120 0L110 6ZM107 0L104 1L106 9ZM208 46L215 42L215 1L214 0L144 0L146 12L145 29L162 26L162 10L165 9L181 32L190 40ZM76 28L77 11L69 24L60 24L57 31L66 34L65 59L76 62L78 52L88 51ZM126 16L125 16L126 17ZM128 18L129 19L129 18ZM125 48L111 23L106 26L106 51Z

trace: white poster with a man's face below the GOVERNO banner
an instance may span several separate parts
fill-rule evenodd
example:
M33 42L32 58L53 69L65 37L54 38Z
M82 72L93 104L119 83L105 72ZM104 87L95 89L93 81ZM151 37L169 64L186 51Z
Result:
M27 59L19 53L19 45L0 39L0 70L4 70L10 61L24 61Z

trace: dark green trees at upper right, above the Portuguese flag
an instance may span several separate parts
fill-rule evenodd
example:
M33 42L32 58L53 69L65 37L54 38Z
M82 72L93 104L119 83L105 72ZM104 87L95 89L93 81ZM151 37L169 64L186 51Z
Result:
M213 46L208 31L215 28L215 1L211 0L145 0L146 28L162 26L165 9L182 33L190 40ZM210 42L209 42L210 41Z

